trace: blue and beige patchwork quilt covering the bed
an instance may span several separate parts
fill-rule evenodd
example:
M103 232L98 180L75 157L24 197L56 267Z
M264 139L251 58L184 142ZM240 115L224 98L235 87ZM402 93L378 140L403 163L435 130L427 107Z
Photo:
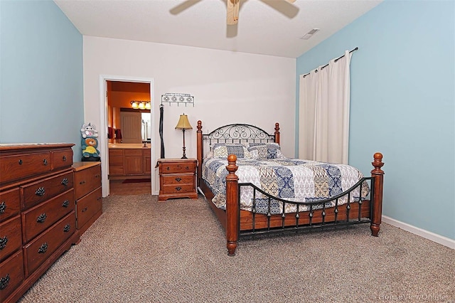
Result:
M337 196L355 185L363 174L353 166L345 164L328 164L318 161L303 159L237 159L238 169L236 175L239 183L255 184L266 193L287 201L314 202ZM225 158L210 158L203 161L203 180L214 193L212 199L215 206L225 209L226 203L226 166ZM360 196L360 191L362 195ZM358 201L360 197L368 196L370 189L363 182L361 189L355 188L350 193L350 202ZM256 191L257 213L267 213L268 198ZM240 208L252 211L253 188L242 186L240 188ZM347 203L348 197L338 199L338 205ZM284 212L296 212L296 205L284 203ZM322 203L312 206L316 210L322 208ZM335 206L335 201L326 203L326 207ZM300 205L299 211L309 211L309 205ZM272 199L271 213L283 212L281 201Z

